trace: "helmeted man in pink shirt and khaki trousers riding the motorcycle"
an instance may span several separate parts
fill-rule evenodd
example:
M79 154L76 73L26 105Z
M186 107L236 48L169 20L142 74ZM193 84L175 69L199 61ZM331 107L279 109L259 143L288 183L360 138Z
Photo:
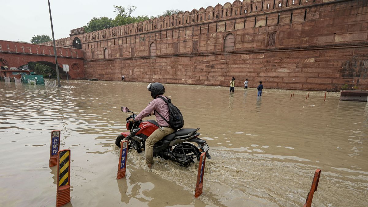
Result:
M146 163L149 168L152 167L153 164L153 145L156 142L160 141L163 137L172 134L175 132L161 116L163 116L166 120L170 119L169 106L167 103L161 98L157 98L159 96L163 96L165 92L165 88L160 83L150 83L147 87L148 91L151 92L151 97L153 100L148 104L148 106L138 114L138 116L129 119L130 122L135 122L138 120L142 120L147 115L155 115L157 123L159 124L159 129L153 131L153 133L147 138L145 142L145 151L146 151ZM164 97L166 99L166 97ZM154 113L154 112L157 113ZM160 115L161 116L160 116Z

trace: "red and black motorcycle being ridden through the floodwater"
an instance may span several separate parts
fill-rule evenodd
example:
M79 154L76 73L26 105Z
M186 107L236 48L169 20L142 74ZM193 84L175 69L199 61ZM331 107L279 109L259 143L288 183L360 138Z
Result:
M131 112L127 107L121 107L123 112ZM155 120L141 120L138 122L129 122L130 118L136 117L137 115L131 112L127 120L127 129L130 132L121 133L115 141L115 144L120 147L121 140L129 141L129 149L137 150L141 152L145 149L146 139L155 131L159 129L159 125ZM176 132L169 134L158 141L153 146L153 156L159 155L164 159L171 159L172 161L178 162L182 166L189 166L194 163L194 159L201 156L201 152L206 152L206 157L211 159L208 153L209 147L205 140L198 138L200 135L197 129L179 129ZM192 143L197 143L196 147Z

